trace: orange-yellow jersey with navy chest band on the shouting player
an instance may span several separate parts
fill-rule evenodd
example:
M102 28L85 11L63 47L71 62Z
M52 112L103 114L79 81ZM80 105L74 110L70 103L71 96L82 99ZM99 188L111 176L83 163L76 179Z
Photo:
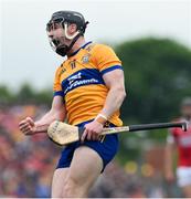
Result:
M77 125L99 114L108 93L103 75L121 69L121 62L112 48L92 42L83 45L57 67L54 96L63 96L68 124ZM123 125L119 111L108 121L116 126Z

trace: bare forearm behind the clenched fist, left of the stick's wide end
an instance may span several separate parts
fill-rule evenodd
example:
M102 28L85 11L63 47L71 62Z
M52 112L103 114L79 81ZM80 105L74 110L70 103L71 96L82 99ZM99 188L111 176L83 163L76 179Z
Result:
M65 115L63 115L63 112L47 112L41 119L35 122L35 133L46 133L50 124L55 119L64 121Z

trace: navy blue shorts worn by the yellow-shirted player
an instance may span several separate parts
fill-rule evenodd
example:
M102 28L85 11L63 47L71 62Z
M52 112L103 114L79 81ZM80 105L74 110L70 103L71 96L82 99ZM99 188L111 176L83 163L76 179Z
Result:
M84 122L79 125L77 125L78 127L84 127L85 124L89 123L92 121L88 122ZM109 127L115 127L115 125L113 124L108 124ZM112 135L106 135L103 142L99 140L85 140L84 143L81 142L75 142L72 143L70 145L67 145L62 154L61 154L61 158L59 160L57 164L57 168L65 168L65 167L70 167L71 166L71 161L73 159L73 155L76 148L81 147L81 146L87 146L89 148L92 148L93 150L95 150L100 158L103 159L103 170L105 169L106 165L114 158L114 156L117 154L118 150L118 135L117 134L112 134Z

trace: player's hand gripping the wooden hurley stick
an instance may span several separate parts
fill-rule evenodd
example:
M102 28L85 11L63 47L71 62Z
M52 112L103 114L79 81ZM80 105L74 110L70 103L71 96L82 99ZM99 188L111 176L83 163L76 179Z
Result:
M97 121L93 121L85 125L85 130L81 137L81 140L98 140L100 138L100 133L103 132L104 125Z

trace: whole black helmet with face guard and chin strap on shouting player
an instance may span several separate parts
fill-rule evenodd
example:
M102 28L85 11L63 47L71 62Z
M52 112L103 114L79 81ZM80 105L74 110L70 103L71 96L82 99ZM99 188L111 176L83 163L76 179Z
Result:
M67 27L71 23L75 23L77 25L77 31L72 36L67 34ZM86 24L87 22L84 21L83 15L77 12L60 11L53 13L52 19L46 24L47 35L51 30L54 30L56 28L56 25L63 29L63 35L61 38L49 36L51 48L61 56L65 56L73 48L77 39L85 32ZM64 39L71 40L71 44L64 44Z

